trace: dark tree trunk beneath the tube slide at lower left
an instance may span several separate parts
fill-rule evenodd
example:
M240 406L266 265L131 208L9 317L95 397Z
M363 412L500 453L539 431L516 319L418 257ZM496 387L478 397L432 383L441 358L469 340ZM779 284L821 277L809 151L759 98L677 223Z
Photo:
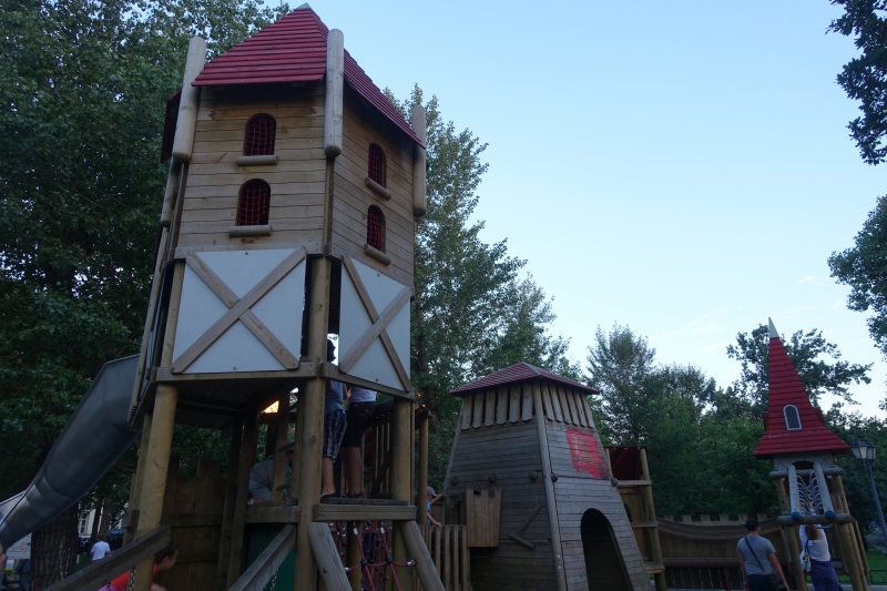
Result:
M74 572L80 539L78 505L40 528L31 538L31 589L43 591Z

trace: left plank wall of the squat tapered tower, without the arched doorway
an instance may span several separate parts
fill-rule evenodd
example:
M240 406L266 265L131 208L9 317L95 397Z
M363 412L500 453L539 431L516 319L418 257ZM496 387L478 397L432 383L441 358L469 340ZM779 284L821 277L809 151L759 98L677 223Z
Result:
M461 490L471 493L476 486L501 490L499 546L471 550L475 591L548 591L555 587L551 528L544 510L546 490L530 388L531 385L506 387L469 395L462 400L459 437L447 475L447 493ZM493 483L491 475L496 475ZM452 485L453 478L458 478L457 485ZM520 528L539 503L542 510L521 532ZM532 542L534 549L511 540L511 533Z

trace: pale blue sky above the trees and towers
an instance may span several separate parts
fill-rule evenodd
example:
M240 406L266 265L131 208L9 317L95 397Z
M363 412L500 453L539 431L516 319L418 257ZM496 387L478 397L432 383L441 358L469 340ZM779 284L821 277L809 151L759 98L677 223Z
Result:
M436 94L489 143L477 215L488 242L554 297L583 360L600 325L722 386L738 332L772 316L844 358L887 364L827 257L853 245L887 165L864 164L835 75L857 51L825 0L467 2L313 0L379 86ZM825 401L826 405L829 400Z

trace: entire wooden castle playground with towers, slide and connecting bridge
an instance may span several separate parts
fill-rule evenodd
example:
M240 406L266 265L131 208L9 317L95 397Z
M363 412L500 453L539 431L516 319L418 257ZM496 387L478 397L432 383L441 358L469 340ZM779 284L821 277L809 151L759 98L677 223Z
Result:
M462 407L443 527L425 526L428 415L410 384L408 306L415 221L426 210L424 110L407 123L343 34L307 6L206 64L204 57L193 39L182 90L167 103L170 172L141 354L103 369L0 523L0 541L77 502L141 428L126 546L53 589L98 588L137 564L134 589L145 590L149 557L171 538L181 560L159 579L171 591L307 591L318 579L329 590L394 581L621 591L648 589L650 578L656 591L737 587L742 518L657 519L646 450L604 448L587 401L594 390L528 364L451 393ZM854 590L866 591L858 527L832 462L846 445L825 428L781 347L773 337L776 381L756 455L774 462L784 514L765 521L764 533L802 580L797 523L834 524ZM368 438L369 499L320 498L327 380L391 397ZM231 434L226 479L205 461L195 477L179 475L175 425ZM248 506L262 425L275 455L273 498ZM96 446L91 471L80 461L84 432ZM681 569L701 568L721 587L697 587L692 574L687 584Z

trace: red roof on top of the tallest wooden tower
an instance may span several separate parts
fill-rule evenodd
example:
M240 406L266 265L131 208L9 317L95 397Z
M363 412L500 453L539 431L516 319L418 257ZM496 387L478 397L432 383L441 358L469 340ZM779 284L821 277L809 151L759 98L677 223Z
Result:
M307 4L207 63L195 86L314 82L326 75L326 24ZM412 141L421 142L395 105L345 51L345 81Z

